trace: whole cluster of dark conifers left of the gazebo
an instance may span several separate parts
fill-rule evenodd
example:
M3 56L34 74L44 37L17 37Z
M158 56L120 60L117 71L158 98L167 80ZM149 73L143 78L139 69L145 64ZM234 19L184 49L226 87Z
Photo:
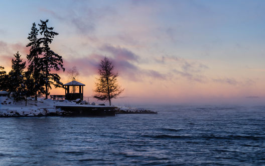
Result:
M55 53L50 44L54 36L58 33L53 31L53 27L48 27L49 20L40 21L38 24L33 23L31 32L29 33L30 53L27 55L28 67L26 62L21 59L19 51L14 54L12 59L12 70L7 74L3 66L0 66L0 91L7 91L14 97L15 100L26 99L28 97L37 97L45 95L48 99L51 85L62 87L60 76L56 73L51 73L51 70L56 71L65 68L63 67L62 56Z

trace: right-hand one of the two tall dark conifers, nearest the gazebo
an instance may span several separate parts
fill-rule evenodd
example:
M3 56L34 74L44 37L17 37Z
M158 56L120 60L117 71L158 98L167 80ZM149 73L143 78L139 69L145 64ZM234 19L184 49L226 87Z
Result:
M40 34L43 35L43 37L39 39L39 42L42 44L41 49L43 52L43 57L41 58L41 70L44 75L45 99L48 99L51 85L54 85L55 88L62 87L60 76L56 73L50 73L51 69L55 69L56 71L60 69L63 69L63 71L65 70L63 67L62 56L52 51L49 47L49 44L52 43L54 36L58 35L58 33L53 31L53 27L47 26L48 21L49 20L41 20L41 24L38 24L40 26Z

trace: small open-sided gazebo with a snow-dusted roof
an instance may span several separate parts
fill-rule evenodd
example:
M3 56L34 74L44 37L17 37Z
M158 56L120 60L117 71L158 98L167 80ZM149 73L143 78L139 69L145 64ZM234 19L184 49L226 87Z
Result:
M71 82L68 82L67 84L64 84L63 86L65 89L66 100L76 100L76 99L83 100L83 93L84 93L84 86L85 86L84 84L76 80L73 80ZM70 91L70 87L71 87L71 91ZM78 88L79 88L79 93L76 93L76 90Z

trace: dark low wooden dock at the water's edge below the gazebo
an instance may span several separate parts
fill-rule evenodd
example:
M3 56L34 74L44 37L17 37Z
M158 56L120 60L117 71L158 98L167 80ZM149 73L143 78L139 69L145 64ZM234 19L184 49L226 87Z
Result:
M117 107L92 105L55 106L64 111L64 116L115 116Z

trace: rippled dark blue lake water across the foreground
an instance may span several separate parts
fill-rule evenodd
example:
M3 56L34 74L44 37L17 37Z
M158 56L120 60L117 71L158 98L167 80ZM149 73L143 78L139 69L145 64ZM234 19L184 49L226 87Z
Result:
M157 115L0 118L0 165L265 164L265 106Z

